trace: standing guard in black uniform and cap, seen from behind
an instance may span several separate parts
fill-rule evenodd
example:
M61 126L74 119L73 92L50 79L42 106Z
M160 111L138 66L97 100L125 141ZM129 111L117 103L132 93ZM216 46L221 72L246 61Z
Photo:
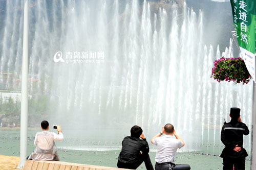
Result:
M221 153L223 158L223 170L244 170L245 157L248 156L243 148L243 135L248 135L248 127L242 123L240 109L233 107L230 109L231 121L224 123L221 130L221 141L225 145Z

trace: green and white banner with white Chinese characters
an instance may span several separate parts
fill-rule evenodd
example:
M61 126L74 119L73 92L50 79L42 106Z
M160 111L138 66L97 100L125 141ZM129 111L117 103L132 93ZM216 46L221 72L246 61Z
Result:
M230 0L234 33L237 36L242 58L255 81L256 0Z

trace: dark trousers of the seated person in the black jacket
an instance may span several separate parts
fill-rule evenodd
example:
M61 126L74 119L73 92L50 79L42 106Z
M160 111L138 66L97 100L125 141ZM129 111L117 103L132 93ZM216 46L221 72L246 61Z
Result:
M150 155L148 154L141 154L136 162L133 163L123 163L118 161L117 167L119 168L127 168L127 169L137 169L140 164L144 162L147 170L154 170L153 165L150 160Z

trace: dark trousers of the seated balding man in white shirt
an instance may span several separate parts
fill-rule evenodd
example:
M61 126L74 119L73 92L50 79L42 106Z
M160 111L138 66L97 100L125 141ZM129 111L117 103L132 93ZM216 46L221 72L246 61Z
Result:
M189 170L190 166L188 164L174 164L170 162L166 163L156 163L156 170Z

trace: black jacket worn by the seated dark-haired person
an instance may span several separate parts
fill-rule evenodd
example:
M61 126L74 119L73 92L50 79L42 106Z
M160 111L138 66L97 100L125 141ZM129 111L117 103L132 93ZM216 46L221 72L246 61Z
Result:
M118 161L122 163L135 163L142 153L150 152L146 139L126 136L122 141L122 151L118 156Z

